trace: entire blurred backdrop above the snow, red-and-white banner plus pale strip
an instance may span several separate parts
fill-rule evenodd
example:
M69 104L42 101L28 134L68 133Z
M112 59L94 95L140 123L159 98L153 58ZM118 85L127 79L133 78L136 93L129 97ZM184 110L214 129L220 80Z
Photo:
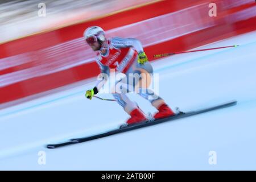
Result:
M101 26L108 37L138 38L150 60L255 30L253 0L217 0L216 16L204 0L0 3L1 108L96 76L94 53L82 39L88 26Z

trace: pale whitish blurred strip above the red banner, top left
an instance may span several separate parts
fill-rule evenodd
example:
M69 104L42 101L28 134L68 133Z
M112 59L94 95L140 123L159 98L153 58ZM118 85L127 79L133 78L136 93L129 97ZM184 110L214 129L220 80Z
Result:
M3 0L0 2L0 42L68 26L147 2L152 0ZM44 18L38 16L38 10L42 7L40 3L46 5L47 16Z

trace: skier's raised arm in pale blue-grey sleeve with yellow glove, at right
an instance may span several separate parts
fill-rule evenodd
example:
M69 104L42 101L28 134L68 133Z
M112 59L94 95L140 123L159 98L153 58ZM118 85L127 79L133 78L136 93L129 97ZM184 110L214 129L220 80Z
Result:
M138 52L138 63L144 64L148 61L147 55L144 52L142 43L138 39L134 38L112 38L112 45L115 48L133 47Z

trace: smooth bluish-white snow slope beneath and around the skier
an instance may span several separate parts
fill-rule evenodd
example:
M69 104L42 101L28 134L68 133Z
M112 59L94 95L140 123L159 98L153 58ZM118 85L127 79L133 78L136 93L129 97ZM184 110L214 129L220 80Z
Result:
M127 115L117 103L87 100L95 82L0 111L1 170L255 170L256 31L152 63L159 94L188 111L236 99L236 106L54 150L45 144L117 128ZM196 48L199 49L199 48ZM100 97L113 98L110 94ZM137 94L146 112L156 110ZM38 163L39 151L46 164ZM217 154L210 165L209 152Z

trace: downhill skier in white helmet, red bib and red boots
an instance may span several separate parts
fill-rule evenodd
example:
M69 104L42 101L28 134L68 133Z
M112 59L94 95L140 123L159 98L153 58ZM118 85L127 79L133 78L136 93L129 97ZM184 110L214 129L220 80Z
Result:
M118 73L124 73L129 78L131 74L147 74L147 77L141 77L133 82L133 87L139 90L138 94L143 98L151 102L151 105L158 109L158 112L154 114L154 118L164 118L175 115L174 111L164 102L159 96L148 88L151 83L151 79L148 78L150 73L153 73L151 64L148 62L148 58L143 51L141 42L134 38L119 38L114 37L110 39L105 38L105 32L101 27L91 26L84 31L84 38L86 43L97 51L96 62L100 66L101 72L110 74L110 69L114 69ZM146 86L142 87L141 82L146 80ZM99 92L106 79L102 78L102 81L98 81L93 89L86 91L86 98L90 100ZM144 92L142 90L144 89ZM125 93L114 92L113 96L119 105L130 115L127 120L127 124L133 124L143 122L147 120L146 114L138 107L136 102L131 101Z

